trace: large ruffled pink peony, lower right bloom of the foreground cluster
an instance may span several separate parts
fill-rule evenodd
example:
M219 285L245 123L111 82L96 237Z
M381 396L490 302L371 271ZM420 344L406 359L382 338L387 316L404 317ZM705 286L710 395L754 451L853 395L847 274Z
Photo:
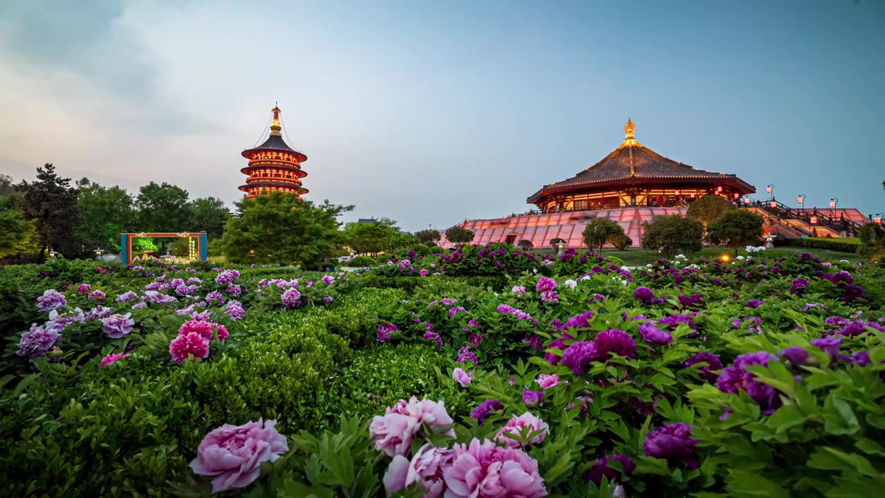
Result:
M502 448L489 440L455 445L452 462L443 471L450 498L491 498L547 495L538 463L521 449Z

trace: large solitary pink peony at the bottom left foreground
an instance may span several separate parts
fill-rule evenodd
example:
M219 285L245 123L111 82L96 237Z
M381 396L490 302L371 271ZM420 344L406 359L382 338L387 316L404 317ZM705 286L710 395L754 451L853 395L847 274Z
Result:
M276 462L289 451L286 437L274 428L275 420L224 424L206 434L190 468L201 476L214 476L212 493L249 486L258 479L263 462Z

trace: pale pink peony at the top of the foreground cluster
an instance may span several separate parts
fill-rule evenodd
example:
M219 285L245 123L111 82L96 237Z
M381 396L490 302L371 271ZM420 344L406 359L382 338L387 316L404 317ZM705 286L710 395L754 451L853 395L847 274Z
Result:
M375 440L375 449L389 456L408 455L412 448L412 439L421 430L421 424L433 428L453 422L443 401L418 401L418 398L412 396L408 402L398 401L387 409L384 416L375 416L369 425L369 436ZM451 428L444 433L455 436L455 431Z

